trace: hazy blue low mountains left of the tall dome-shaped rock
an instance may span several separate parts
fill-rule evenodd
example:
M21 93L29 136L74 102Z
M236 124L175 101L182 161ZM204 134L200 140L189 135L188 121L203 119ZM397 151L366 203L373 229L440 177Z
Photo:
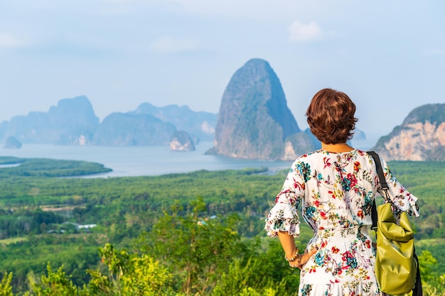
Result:
M115 112L102 122L95 115L85 96L61 99L48 112L30 112L14 116L0 124L0 142L53 143L57 145L92 146L167 146L176 141L178 131L187 133L180 138L213 140L218 114L192 111L188 106L156 107L149 103L135 111ZM184 143L193 147L190 143ZM8 147L10 147L9 145Z

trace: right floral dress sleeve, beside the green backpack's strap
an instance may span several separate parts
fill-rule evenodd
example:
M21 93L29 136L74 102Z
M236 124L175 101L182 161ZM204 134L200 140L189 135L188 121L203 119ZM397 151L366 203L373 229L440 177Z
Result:
M407 212L411 216L419 216L419 206L417 205L417 197L408 192L402 184L392 175L390 168L388 167L385 160L380 160L382 162L383 173L387 185L389 187L388 195L386 196L385 191L380 187L378 192L385 198L385 202L391 202L392 211L397 216L401 212Z

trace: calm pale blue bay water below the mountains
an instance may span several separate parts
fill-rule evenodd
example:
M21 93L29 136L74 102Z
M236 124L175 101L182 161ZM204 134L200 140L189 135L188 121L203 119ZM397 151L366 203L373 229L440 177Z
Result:
M362 146L365 143L362 143ZM292 161L240 160L217 155L204 155L213 146L203 141L192 152L171 151L168 146L100 147L54 146L23 144L20 149L0 148L1 156L19 158L53 158L86 160L102 163L112 172L90 177L129 177L164 175L195 170L241 170L244 168L269 168L269 172L286 170ZM357 148L365 149L357 146Z

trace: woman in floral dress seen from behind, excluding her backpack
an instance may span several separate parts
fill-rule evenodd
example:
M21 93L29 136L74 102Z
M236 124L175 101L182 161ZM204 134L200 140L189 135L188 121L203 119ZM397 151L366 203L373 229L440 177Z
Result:
M292 164L265 230L278 236L286 261L300 268L299 295L381 295L375 279L375 250L368 234L372 202L382 192L374 160L346 143L353 136L355 104L348 95L321 89L306 111L311 133L321 150L302 155ZM417 198L407 192L381 160L395 214L417 213ZM385 194L382 194L385 196ZM314 235L304 254L297 207Z

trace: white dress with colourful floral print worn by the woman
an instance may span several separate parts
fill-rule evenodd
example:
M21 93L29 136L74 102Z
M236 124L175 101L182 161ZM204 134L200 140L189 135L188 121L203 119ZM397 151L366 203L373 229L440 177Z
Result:
M385 202L392 203L395 214L404 211L418 216L417 197L381 162L390 187ZM302 216L314 232L307 249L318 246L318 252L301 268L299 296L380 295L375 250L368 234L379 187L374 160L361 150L317 150L292 164L265 230L268 236L277 236L277 231L299 236L297 207L302 202Z

